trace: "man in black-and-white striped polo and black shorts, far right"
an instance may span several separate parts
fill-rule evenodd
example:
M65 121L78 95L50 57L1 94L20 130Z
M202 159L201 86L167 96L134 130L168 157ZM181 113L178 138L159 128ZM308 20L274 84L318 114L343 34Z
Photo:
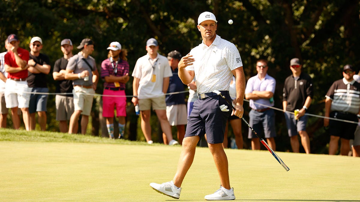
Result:
M342 75L343 78L335 81L326 93L325 117L357 122L360 118L360 84L352 78L355 69L351 65L344 66ZM329 155L336 154L341 139L340 154L347 156L356 124L324 119L324 126L329 126Z

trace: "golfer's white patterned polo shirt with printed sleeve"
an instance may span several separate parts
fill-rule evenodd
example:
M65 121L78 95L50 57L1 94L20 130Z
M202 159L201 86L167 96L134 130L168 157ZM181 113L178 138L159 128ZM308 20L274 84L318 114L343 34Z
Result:
M218 35L209 47L202 42L190 51L190 55L195 61L186 70L195 72L198 94L229 91L231 70L243 66L237 47Z

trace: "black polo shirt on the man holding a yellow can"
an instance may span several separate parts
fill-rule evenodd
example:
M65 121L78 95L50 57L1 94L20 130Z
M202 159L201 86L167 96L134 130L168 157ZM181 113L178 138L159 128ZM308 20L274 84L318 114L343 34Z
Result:
M301 109L307 97L313 96L311 77L301 72L300 77L295 81L293 75L285 79L283 89L283 101L287 101L287 111Z

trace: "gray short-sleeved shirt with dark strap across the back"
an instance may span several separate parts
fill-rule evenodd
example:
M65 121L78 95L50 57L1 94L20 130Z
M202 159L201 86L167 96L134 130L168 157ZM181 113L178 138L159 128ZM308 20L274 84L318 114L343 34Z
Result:
M84 61L84 59L87 61L88 64L86 64L86 62ZM81 52L79 52L78 54L72 56L69 59L69 62L66 66L66 69L69 70L73 70L74 74L78 74L81 73L82 71L89 71L89 81L84 81L84 79L75 79L73 80L73 85L82 85L82 86L91 86L93 84L93 71L96 70L96 64L95 64L95 59L93 57L91 57L90 55L87 56L87 58L84 58L84 56L82 56Z

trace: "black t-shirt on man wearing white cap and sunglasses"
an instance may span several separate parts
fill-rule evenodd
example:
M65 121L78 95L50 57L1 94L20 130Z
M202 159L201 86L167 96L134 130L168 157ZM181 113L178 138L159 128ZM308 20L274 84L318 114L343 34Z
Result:
M30 55L30 60L33 59L37 64L40 65L50 64L49 57L45 54L40 53L40 55L37 57L31 54L29 55ZM29 75L27 77L27 84L29 87L47 88L48 85L46 80L46 74L44 73L33 74L29 72Z

